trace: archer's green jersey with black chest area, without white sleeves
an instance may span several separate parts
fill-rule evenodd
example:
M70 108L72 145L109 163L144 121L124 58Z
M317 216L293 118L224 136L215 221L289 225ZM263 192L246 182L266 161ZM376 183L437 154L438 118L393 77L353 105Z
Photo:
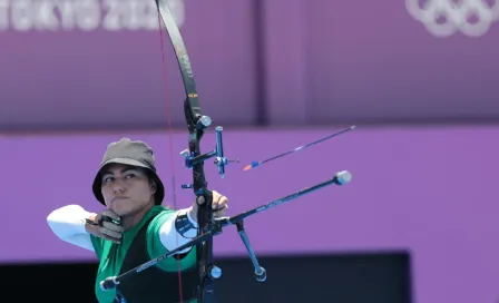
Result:
M168 252L160 242L159 229L175 214L175 211L164 206L154 206L136 226L124 233L120 244L91 235L91 243L99 258L95 283L95 293L99 303L112 303L116 296L116 290L100 289L101 281L118 276ZM175 256L163 260L143 272L133 274L130 278L121 281L117 287L128 303L180 302L178 297L179 266L183 301L196 302L194 297L198 277L195 247L182 255L180 261Z

